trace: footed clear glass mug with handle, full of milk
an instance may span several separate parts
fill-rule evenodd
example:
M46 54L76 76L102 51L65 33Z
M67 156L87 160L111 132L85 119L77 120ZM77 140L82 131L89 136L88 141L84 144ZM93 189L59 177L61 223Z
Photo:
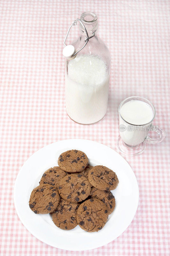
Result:
M139 155L144 151L145 143L158 143L165 138L165 132L152 124L154 118L155 108L145 98L132 96L121 102L119 105L120 136L117 146L123 154ZM157 132L159 138L150 138L149 131Z

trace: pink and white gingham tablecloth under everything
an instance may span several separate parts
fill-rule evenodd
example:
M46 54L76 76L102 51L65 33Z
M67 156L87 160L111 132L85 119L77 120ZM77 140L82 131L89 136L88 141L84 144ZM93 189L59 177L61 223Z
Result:
M97 13L99 36L112 56L107 114L93 125L71 121L64 104L63 40L71 22L85 11ZM169 255L169 17L168 0L0 1L2 256ZM69 40L77 31L71 30ZM134 220L115 241L91 251L69 252L42 243L14 208L19 169L35 151L63 139L94 140L118 151L118 105L132 95L152 101L154 124L167 133L141 156L126 157L140 191Z

